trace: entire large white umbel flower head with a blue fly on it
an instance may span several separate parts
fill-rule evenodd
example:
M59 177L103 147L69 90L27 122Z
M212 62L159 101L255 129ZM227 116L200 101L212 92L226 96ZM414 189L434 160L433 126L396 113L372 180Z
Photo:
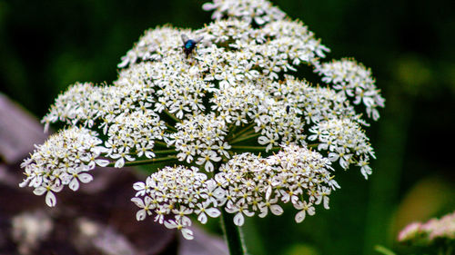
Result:
M368 178L364 128L384 107L369 69L324 61L329 48L268 1L203 7L213 21L201 29L147 30L112 85L75 83L59 95L43 123L67 128L36 146L21 186L55 206L55 193L91 181L96 165L148 163L153 173L134 184L137 220L191 239L190 215L205 223L227 211L242 225L290 202L300 222L319 203L329 209L334 166ZM298 77L301 65L320 83Z

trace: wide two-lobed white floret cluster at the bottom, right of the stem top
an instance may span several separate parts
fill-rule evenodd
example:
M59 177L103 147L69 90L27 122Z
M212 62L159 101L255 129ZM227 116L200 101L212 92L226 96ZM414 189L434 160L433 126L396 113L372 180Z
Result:
M306 213L315 213L314 204L323 201L329 209L329 194L339 188L329 170L330 162L321 154L291 144L265 159L252 153L236 155L221 166L215 180L225 189L226 211L236 213L238 226L244 216L265 217L268 210L280 215L278 203L289 201L298 210L295 220L301 222Z

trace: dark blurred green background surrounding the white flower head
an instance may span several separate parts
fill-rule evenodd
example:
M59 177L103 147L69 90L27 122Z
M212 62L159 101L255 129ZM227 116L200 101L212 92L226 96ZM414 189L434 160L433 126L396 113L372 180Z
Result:
M455 210L455 8L450 0L273 2L332 52L369 66L386 98L369 137L378 160L365 181L337 172L329 211L301 224L295 211L248 219L252 254L379 254L399 229ZM76 81L110 83L116 64L150 27L199 28L202 1L0 0L0 86L41 118ZM286 210L285 210L286 211ZM217 221L209 225L214 230Z

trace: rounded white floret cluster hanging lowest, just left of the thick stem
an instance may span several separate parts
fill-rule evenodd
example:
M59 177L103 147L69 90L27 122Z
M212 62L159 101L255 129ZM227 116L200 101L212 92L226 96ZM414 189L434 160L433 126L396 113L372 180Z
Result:
M186 239L193 239L193 231L187 229L191 226L190 214L196 214L197 221L205 224L207 216L221 214L217 206L224 202L224 191L196 167L165 167L133 187L137 192L131 201L141 209L136 213L137 221L155 213L155 221L168 229L181 230ZM174 218L165 219L166 215Z

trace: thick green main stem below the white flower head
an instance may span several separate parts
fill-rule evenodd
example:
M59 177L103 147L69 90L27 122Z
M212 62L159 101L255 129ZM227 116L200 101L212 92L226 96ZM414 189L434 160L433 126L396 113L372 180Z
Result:
M247 254L247 247L243 240L243 235L238 226L234 224L234 215L221 210L221 227L225 234L227 248L230 255L244 255Z

